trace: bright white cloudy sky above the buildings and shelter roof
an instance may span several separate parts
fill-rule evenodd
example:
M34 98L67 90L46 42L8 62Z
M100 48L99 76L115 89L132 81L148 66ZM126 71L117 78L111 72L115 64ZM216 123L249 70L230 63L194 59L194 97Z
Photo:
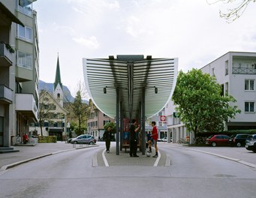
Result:
M240 1L240 0L236 0ZM256 52L256 3L233 23L206 0L38 0L40 80L77 91L83 58L142 54L179 58L179 71L202 68L229 51Z

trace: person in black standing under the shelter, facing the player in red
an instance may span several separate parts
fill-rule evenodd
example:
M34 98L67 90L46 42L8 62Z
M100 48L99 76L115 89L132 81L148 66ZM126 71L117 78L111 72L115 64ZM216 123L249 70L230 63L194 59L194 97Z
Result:
M132 119L130 127L130 157L139 157L137 155L137 131L140 129L140 124L136 127L136 119Z

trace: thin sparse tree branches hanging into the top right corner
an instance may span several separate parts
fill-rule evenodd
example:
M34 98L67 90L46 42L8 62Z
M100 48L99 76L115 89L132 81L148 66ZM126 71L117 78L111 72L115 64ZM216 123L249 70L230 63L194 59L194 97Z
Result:
M232 8L229 8L227 12L219 11L220 17L223 17L227 22L233 22L242 16L242 13L245 11L246 7L256 0L206 0L209 5L215 4L221 1L223 4L229 4Z

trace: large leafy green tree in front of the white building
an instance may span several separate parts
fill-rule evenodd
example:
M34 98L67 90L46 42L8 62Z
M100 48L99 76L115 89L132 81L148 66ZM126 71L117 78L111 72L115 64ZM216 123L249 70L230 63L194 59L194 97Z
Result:
M197 69L187 74L179 72L172 100L185 127L194 131L195 139L198 132L223 130L224 121L240 113L232 96L221 96L215 77Z

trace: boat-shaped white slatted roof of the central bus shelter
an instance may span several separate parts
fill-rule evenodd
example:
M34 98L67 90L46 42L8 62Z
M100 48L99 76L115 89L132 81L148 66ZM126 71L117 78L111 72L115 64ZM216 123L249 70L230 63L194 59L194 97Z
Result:
M111 118L116 117L117 92L123 118L140 118L143 93L146 118L161 111L173 95L177 68L178 58L152 58L151 55L83 58L89 96L95 106Z

